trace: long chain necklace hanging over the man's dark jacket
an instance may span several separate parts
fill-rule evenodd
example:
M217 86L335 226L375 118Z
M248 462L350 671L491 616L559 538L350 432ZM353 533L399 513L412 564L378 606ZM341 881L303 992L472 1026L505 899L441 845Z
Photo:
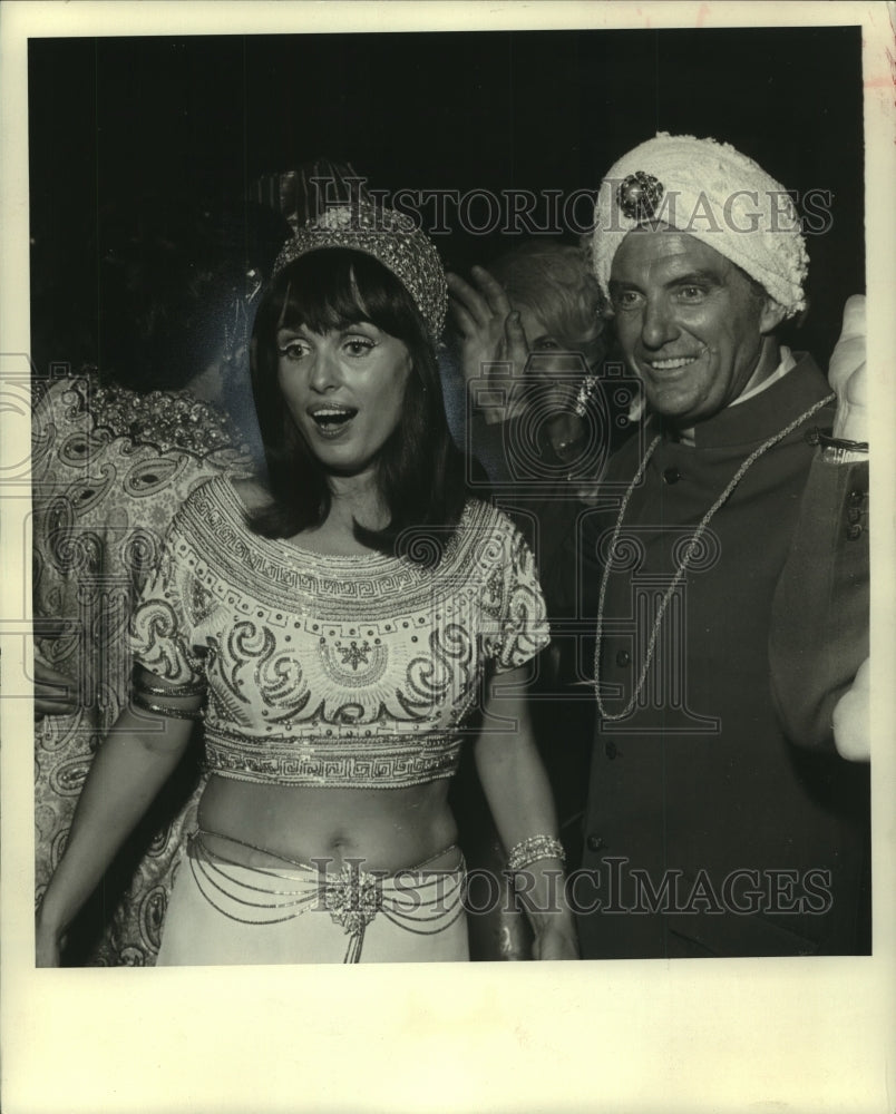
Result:
M694 556L695 553L699 551L700 540L702 539L703 534L705 532L705 529L709 526L710 521L712 520L712 517L715 514L715 511L728 500L731 492L734 490L738 483L740 483L748 468L750 468L753 463L756 463L756 461L772 446L777 444L779 441L782 441L788 433L792 433L792 431L797 429L798 426L801 426L802 422L811 418L812 414L816 413L818 410L820 410L822 407L826 407L829 402L832 402L834 399L835 399L834 393L828 394L826 398L821 399L814 405L809 407L809 409L805 411L805 413L801 413L799 418L796 418L789 424L785 426L782 430L779 430L767 441L763 441L762 444L759 446L759 448L753 449L750 456L747 457L747 459L741 463L740 468L738 468L738 470L734 472L733 477L729 481L724 491L722 491L722 494L719 496L715 502L700 519L700 522L698 524L697 529L694 530L693 536L691 537L691 540L684 547L684 554L682 556L678 569L675 570L675 575L672 577L672 583L669 585L669 588L666 589L660 603L660 607L656 612L656 618L653 620L653 629L651 631L651 635L647 641L647 652L644 656L644 664L641 667L641 673L639 675L637 684L635 685L634 692L632 693L632 698L629 701L629 703L625 705L625 709L622 712L607 712L606 709L604 707L603 697L601 696L601 643L603 639L603 632L604 632L604 600L606 598L606 586L610 580L610 573L613 568L613 558L616 553L616 544L619 541L620 531L622 530L622 520L625 517L625 511L629 507L629 500L631 499L634 489L641 482L644 472L646 471L646 467L650 462L650 459L655 452L656 446L662 440L662 434L658 433L656 437L654 437L654 439L647 446L646 452L644 453L644 458L642 459L641 463L639 465L637 471L634 475L634 479L629 485L629 488L622 498L622 506L620 507L619 517L616 518L616 526L613 530L613 537L611 539L610 549L607 551L606 565L604 566L604 575L601 579L601 595L597 602L597 641L594 645L594 695L597 700L597 710L600 711L602 719L611 721L624 720L627 715L631 714L632 709L637 703L641 696L641 692L644 688L644 682L646 681L647 677L647 671L650 670L650 664L653 661L653 653L656 648L656 639L660 636L660 627L662 626L666 608L669 607L670 600L675 594L678 586L681 584L684 574L688 571L688 566L692 557Z

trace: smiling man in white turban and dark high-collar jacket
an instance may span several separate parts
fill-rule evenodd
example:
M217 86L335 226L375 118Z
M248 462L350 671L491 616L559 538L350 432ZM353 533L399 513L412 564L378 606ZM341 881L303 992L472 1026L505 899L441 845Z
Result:
M646 419L576 527L597 629L583 957L868 951L867 768L789 737L772 696L804 497L867 494L846 383L776 338L806 307L795 207L732 147L660 135L611 168L595 215ZM867 573L866 521L845 512L837 545Z

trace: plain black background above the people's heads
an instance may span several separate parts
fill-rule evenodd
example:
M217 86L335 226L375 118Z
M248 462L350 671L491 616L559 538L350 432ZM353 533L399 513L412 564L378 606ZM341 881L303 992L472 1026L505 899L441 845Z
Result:
M36 365L90 359L104 226L154 193L242 196L325 154L390 192L567 194L656 130L832 193L811 311L785 338L824 364L864 290L860 49L858 27L32 39ZM439 237L459 268L505 246Z

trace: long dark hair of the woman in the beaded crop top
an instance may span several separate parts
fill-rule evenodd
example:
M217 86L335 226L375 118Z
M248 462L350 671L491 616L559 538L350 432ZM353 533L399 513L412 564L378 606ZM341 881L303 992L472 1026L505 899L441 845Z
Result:
M369 321L402 341L411 359L399 423L377 460L390 521L358 522L354 535L380 553L430 563L460 520L464 459L451 440L441 382L426 325L401 282L378 260L350 248L321 248L286 266L265 292L252 336L252 390L273 501L251 518L255 532L292 537L330 512L327 472L284 405L277 383L277 330L315 333Z

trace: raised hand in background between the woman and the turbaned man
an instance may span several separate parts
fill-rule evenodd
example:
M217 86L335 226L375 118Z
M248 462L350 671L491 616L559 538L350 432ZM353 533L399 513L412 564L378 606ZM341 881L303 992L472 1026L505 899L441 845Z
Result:
M501 284L485 267L474 267L471 273L475 286L459 275L448 275L449 304L461 338L464 379L468 389L476 384L475 401L494 424L512 417L522 404L528 344Z

